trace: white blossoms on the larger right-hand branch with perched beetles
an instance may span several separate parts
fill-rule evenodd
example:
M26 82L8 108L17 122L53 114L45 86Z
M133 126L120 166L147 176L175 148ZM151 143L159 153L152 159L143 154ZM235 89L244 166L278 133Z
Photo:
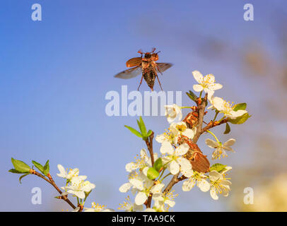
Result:
M208 109L215 110L216 117L218 114L223 114L223 119L238 119L243 114L247 113L245 109L235 109L229 102L226 102L221 97L214 97L215 90L221 89L223 85L215 83L215 78L212 74L202 76L199 71L192 72L195 80L199 83L194 85L194 91L201 93L204 91L207 93L210 107ZM168 176L179 174L184 176L185 180L182 183L183 191L190 191L195 184L203 192L210 191L211 198L218 199L218 194L228 196L230 191L231 182L230 178L226 177L226 172L232 169L226 165L215 164L211 166L209 172L202 173L192 169L191 162L187 159L186 154L189 151L189 145L182 142L182 138L187 138L192 141L194 135L197 133L197 127L193 126L188 128L187 124L182 120L182 108L177 105L166 105L165 115L169 122L169 127L165 133L156 136L156 141L160 143L160 154L154 153L154 161L161 158L162 170L160 176L156 179L148 178L148 169L152 167L151 157L148 157L148 153L145 149L141 150L139 159L135 162L129 162L126 165L126 170L129 172L129 182L122 184L119 191L127 192L131 191L131 194L135 196L134 201L128 196L127 201L120 204L120 209L126 211L142 211L144 210L144 204L147 203L148 197L151 196L153 206L146 208L145 211L167 211L170 207L175 206L172 192L164 191L165 184L163 179ZM216 118L215 117L215 118ZM214 118L214 119L215 119ZM220 120L220 121L221 121ZM231 138L225 143L218 141L218 138L211 132L216 141L209 138L206 139L206 145L213 148L211 155L212 160L226 157L226 151L234 152L231 145L235 143L235 139ZM166 172L165 169L168 171ZM165 172L165 176L163 174Z

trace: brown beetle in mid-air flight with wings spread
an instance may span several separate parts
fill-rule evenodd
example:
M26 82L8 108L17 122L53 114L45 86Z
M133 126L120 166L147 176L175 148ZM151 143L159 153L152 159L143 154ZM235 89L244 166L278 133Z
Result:
M156 78L158 78L158 72L163 74L163 71L169 69L172 66L170 63L156 63L156 61L158 61L159 52L155 51L156 48L153 48L151 52L142 52L139 50L138 53L141 54L141 57L131 58L126 63L126 66L131 69L117 73L115 78L129 79L141 74L141 82L139 83L139 88L144 78L148 87L151 88L151 91L153 91L153 85ZM158 83L161 90L163 90L159 78Z

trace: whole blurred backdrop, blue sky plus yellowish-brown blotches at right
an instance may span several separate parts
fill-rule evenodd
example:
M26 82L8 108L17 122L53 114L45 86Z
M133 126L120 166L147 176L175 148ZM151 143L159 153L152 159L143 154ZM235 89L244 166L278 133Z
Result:
M42 21L31 20L35 3ZM247 3L254 21L243 19ZM213 73L223 84L216 95L247 102L252 114L228 135L224 126L213 130L221 141L237 141L236 153L219 161L233 167L230 196L213 201L209 192L183 192L177 184L172 210L287 210L286 1L6 0L0 6L1 211L70 210L40 178L30 175L19 184L18 174L8 173L11 157L29 164L49 159L59 186L57 164L78 167L96 184L87 207L92 201L119 207L127 196L118 190L127 182L124 166L145 143L124 128L135 127L137 117L107 117L105 94L120 93L121 85L136 90L140 77L113 76L139 49L151 47L161 51L159 61L174 64L160 76L164 90L184 94L196 83L192 71ZM190 104L183 95L182 105ZM144 121L156 134L168 127L165 117ZM212 137L205 134L198 144L210 157L205 138ZM33 187L42 189L42 205L31 203ZM253 205L243 203L246 187L254 190Z

